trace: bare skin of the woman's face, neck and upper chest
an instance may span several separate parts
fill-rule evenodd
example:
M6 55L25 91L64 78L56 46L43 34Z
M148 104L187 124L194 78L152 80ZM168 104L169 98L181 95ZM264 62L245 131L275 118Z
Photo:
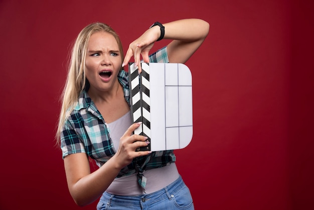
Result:
M88 94L106 123L117 120L129 111L117 77L121 63L119 47L113 35L107 32L91 35L85 70L90 83ZM100 72L110 72L111 75L100 76Z

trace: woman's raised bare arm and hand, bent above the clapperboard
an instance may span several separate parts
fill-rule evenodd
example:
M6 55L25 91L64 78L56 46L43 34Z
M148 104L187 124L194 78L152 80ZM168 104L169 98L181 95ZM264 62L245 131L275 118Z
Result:
M167 47L171 63L185 63L200 47L209 32L209 24L200 19L183 19L165 23L163 26L165 27L164 39L173 40ZM149 50L160 36L159 26L147 29L129 45L122 65L126 65L132 56L138 65L140 55L144 62L149 62Z

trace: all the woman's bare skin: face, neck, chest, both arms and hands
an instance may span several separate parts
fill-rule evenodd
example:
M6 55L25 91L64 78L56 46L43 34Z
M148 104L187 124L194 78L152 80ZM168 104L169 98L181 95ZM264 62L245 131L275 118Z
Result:
M173 40L167 47L171 63L185 63L199 48L209 31L209 24L199 19L179 20L163 25L164 39ZM186 33L187 28L189 33ZM85 72L91 85L88 94L107 123L119 119L129 111L122 86L117 79L120 67L126 65L132 56L137 65L140 57L144 62L148 62L149 51L160 37L160 33L158 26L145 31L130 43L123 62L119 56L118 44L112 35L96 32L90 37ZM99 75L101 71L110 71L111 76L101 77ZM116 154L93 173L90 172L89 160L85 153L71 154L64 158L69 191L79 206L98 199L119 171L130 164L133 158L150 153L150 151L135 152L137 147L148 144L145 137L132 135L139 125L135 123L127 129L120 138Z

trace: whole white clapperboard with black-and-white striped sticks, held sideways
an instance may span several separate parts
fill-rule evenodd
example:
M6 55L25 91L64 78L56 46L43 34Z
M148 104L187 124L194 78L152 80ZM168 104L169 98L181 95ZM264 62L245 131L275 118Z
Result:
M131 116L142 122L134 134L148 137L137 151L163 151L188 146L193 135L192 74L181 63L129 63Z

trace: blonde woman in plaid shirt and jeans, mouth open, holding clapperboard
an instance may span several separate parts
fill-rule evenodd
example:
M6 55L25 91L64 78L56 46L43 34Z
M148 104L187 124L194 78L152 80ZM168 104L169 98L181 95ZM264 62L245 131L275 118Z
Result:
M131 122L123 66L132 56L139 68L140 56L144 62L185 63L208 31L209 24L199 19L156 22L129 45L124 59L120 39L109 26L94 23L80 32L57 132L69 191L79 206L101 196L97 209L194 209L173 151L135 152L149 142L132 135L140 123ZM148 56L161 39L173 41ZM89 158L99 166L92 173Z

